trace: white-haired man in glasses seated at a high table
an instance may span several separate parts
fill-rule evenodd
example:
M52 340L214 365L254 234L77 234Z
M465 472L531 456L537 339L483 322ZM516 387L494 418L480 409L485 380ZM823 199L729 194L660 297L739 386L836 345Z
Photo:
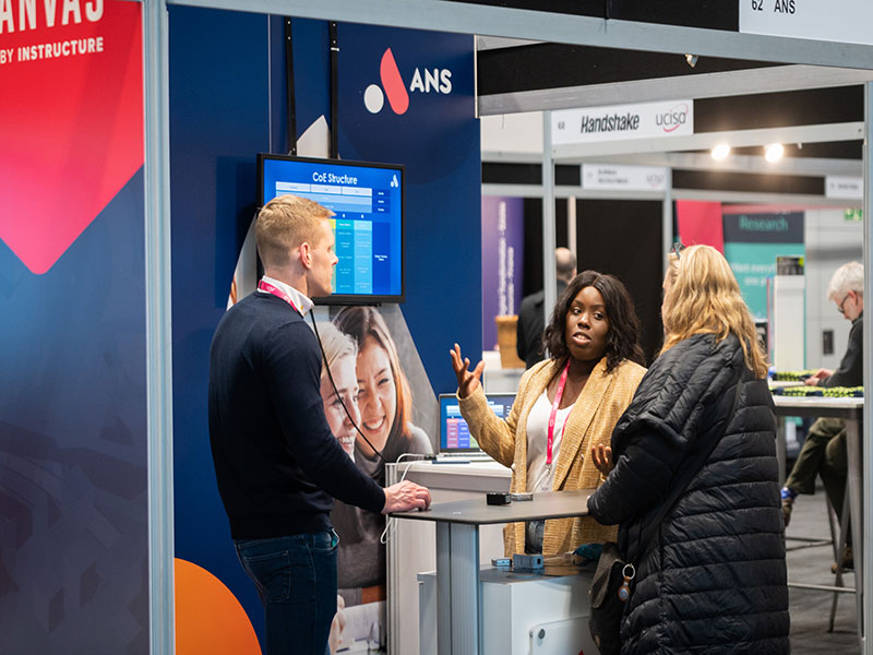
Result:
M863 312L864 266L858 262L844 264L834 273L827 287L827 297L837 305L847 320L852 322L849 346L836 371L821 369L806 380L817 386L860 386L863 384ZM842 499L846 493L846 421L840 418L820 418L803 442L791 475L782 487L782 515L785 524L791 520L791 510L798 493L815 491L815 476L821 475L830 504L842 515ZM847 535L847 541L851 539ZM847 547L845 563L851 565L851 549Z

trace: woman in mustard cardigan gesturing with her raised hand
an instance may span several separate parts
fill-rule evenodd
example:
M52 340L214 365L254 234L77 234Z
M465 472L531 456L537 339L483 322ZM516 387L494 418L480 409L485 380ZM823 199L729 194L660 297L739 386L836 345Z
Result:
M558 299L543 332L550 359L522 376L506 420L488 407L479 379L483 364L455 344L461 414L489 455L513 469L512 491L591 489L603 480L589 453L609 445L643 368L639 321L624 285L596 271L578 274ZM507 556L555 555L581 544L615 539L615 527L590 517L513 523L503 531Z

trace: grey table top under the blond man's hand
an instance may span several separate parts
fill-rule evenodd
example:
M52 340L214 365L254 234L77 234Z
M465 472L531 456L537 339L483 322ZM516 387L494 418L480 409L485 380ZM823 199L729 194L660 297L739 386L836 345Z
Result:
M594 489L534 493L533 500L514 500L507 505L487 504L485 493L482 493L479 498L470 500L436 503L424 512L399 512L392 514L392 516L470 525L513 523L516 521L530 521L531 519L585 516L588 514L587 500L591 493L594 493Z

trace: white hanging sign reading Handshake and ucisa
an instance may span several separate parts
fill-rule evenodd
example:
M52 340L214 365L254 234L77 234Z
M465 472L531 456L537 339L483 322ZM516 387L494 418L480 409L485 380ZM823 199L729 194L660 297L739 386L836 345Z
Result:
M693 133L694 100L552 111L554 145Z

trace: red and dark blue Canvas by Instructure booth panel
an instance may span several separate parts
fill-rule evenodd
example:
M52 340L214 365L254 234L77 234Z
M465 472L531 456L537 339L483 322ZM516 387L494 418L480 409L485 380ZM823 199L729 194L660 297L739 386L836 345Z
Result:
M0 651L147 653L142 7L52 7L0 11Z

